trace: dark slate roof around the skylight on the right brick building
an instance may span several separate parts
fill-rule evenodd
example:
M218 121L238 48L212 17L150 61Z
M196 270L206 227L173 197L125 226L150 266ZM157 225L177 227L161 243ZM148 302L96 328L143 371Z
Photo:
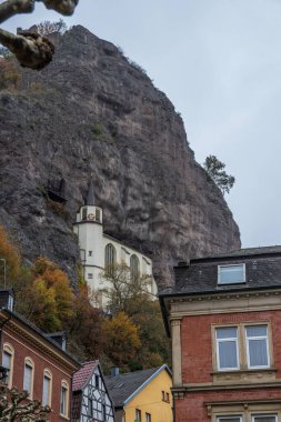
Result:
M245 264L245 283L218 285L218 265ZM162 291L160 298L178 294L204 294L218 291L281 288L281 247L250 248L191 260L174 268L174 287Z

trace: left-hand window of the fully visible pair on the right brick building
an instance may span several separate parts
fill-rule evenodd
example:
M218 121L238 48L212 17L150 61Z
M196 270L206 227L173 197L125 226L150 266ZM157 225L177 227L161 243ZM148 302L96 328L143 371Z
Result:
M239 368L237 326L219 328L215 333L218 370L237 370Z

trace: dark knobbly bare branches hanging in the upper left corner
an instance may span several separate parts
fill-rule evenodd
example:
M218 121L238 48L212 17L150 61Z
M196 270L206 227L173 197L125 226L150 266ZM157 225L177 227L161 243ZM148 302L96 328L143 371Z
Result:
M20 13L32 13L36 3L41 2L47 9L70 16L79 0L6 0L0 4L0 24ZM44 68L54 53L53 44L40 33L22 31L13 34L0 28L0 43L8 48L24 68L40 70Z

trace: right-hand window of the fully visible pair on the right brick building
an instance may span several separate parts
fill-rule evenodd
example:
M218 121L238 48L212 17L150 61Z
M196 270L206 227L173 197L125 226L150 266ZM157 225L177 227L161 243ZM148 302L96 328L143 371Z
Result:
M269 366L269 340L267 325L245 326L248 368Z

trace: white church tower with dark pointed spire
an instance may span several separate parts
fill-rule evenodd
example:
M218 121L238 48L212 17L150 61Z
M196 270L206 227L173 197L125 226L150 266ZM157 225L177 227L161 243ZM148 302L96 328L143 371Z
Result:
M96 205L93 181L90 179L84 204L77 214L73 231L78 235L84 280L97 290L104 267L102 209Z

